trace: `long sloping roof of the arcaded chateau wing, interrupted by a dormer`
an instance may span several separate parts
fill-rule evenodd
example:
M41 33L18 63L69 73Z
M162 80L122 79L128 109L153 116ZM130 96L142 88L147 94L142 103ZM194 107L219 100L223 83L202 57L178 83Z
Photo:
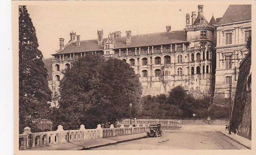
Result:
M126 36L115 38L115 48L120 49L188 42L185 30L141 34L131 37L132 43L129 45L126 45ZM68 43L65 45L64 50L59 50L56 54L68 54L98 50L103 50L103 45L98 45L98 40L84 40L80 42L80 47L76 47L76 43Z

